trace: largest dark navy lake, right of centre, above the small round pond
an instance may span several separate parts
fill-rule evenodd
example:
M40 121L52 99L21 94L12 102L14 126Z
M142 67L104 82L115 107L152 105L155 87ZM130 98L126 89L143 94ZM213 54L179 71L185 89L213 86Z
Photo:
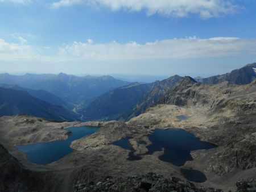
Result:
M182 166L186 161L193 160L190 155L191 151L216 147L216 145L201 141L188 131L174 128L168 130L155 129L148 136L148 139L152 144L147 146L148 152L146 155L152 155L155 151L162 151L162 148L164 148L164 154L159 156L159 159L176 166Z

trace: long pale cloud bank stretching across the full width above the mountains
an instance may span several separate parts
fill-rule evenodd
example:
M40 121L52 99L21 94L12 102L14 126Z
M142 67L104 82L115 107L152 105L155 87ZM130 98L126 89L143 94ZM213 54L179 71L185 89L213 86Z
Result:
M166 39L139 44L130 41L126 44L113 41L95 44L92 40L73 42L58 49L51 48L47 55L46 48L36 48L22 41L8 43L0 39L1 61L138 61L160 59L192 59L204 57L255 56L256 39L239 39L237 37L213 37L199 39Z

